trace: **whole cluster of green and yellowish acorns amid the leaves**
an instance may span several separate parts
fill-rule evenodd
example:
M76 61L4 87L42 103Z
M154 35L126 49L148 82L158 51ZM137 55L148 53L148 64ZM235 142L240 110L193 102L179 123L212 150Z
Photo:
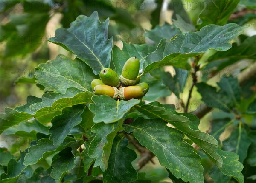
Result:
M122 68L122 75L104 68L99 74L100 79L93 79L91 87L95 95L107 95L117 100L141 99L148 92L148 84L140 83L138 77L140 61L136 57L129 58Z

